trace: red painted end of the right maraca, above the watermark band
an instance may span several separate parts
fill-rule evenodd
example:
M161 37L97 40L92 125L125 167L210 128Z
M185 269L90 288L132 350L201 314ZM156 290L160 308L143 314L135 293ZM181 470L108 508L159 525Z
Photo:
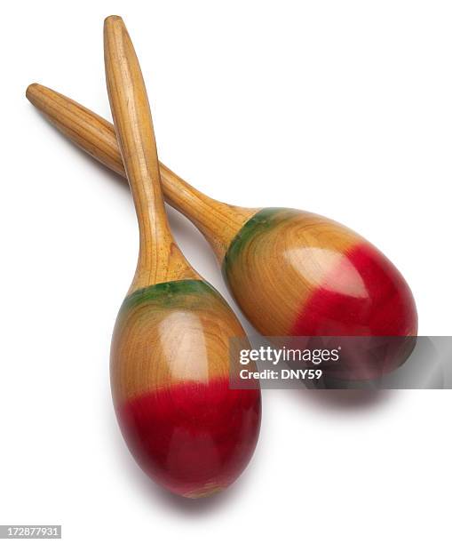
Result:
M345 253L305 302L293 336L416 335L417 312L408 284L370 244Z

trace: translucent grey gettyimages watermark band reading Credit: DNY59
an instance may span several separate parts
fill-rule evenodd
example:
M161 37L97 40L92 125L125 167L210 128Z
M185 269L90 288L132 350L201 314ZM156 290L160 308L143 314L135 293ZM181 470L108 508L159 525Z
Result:
M235 338L230 387L451 388L452 337Z

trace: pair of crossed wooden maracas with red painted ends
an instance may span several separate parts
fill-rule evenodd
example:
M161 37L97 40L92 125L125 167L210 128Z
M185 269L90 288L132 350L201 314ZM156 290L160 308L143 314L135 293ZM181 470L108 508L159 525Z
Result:
M229 388L229 340L245 333L175 244L161 181L167 202L201 230L234 299L266 336L416 335L416 306L398 270L348 228L309 212L220 203L159 164L145 84L121 18L107 18L104 47L115 127L41 85L30 85L27 96L70 140L129 180L139 261L112 341L115 410L149 476L172 492L205 496L234 482L250 460L260 391Z

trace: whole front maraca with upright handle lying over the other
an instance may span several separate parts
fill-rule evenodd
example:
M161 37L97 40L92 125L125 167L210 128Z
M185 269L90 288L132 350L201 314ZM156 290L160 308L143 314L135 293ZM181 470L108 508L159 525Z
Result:
M188 264L168 226L139 61L119 17L104 27L108 96L139 221L139 260L111 347L115 410L141 468L186 497L225 488L258 440L260 390L229 388L226 301Z

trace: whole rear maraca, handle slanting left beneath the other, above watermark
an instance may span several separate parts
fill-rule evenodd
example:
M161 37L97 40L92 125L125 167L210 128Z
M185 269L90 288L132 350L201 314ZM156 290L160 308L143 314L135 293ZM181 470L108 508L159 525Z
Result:
M76 145L124 175L111 124L42 85L30 85L27 96ZM262 334L416 335L408 284L349 228L310 212L223 204L163 164L160 170L166 200L206 237L235 300Z

